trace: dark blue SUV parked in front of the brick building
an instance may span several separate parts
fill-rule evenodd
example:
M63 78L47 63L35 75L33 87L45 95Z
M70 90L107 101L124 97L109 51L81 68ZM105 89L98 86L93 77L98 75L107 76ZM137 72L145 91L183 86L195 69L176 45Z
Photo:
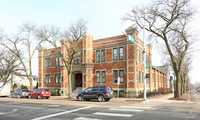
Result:
M94 86L79 92L76 98L79 101L98 99L99 102L109 101L113 98L113 89L108 86Z

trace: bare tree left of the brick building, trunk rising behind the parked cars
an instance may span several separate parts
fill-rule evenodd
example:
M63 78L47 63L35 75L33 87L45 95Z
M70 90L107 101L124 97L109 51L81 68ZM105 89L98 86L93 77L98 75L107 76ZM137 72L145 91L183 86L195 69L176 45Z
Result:
M0 45L4 46L15 56L18 57L26 73L26 77L30 82L30 90L33 90L32 85L32 59L35 51L43 42L43 40L34 39L35 25L30 23L23 24L19 33L14 35L4 35L0 40ZM28 63L28 66L27 66Z

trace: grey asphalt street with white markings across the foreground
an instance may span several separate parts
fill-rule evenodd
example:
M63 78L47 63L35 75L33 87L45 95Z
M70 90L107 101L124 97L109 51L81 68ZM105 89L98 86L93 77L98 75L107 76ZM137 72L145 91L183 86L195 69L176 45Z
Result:
M8 99L0 100L0 120L200 120L200 94L194 92L192 97L192 102L118 104L79 101L55 104L51 100Z

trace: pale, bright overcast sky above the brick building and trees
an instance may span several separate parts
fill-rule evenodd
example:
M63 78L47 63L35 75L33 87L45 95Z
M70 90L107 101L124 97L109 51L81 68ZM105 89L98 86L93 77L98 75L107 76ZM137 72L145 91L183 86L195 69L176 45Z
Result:
M151 0L0 0L0 27L6 32L15 32L24 22L36 25L56 25L61 28L79 19L86 20L88 33L94 39L121 35L128 27L121 18L133 6L144 6ZM200 6L200 0L192 0ZM200 15L196 13L193 24L194 32L200 31ZM142 32L139 33L139 36ZM196 44L196 48L200 44ZM200 47L199 47L200 48ZM159 51L153 49L153 65L161 65ZM38 74L37 54L34 58L35 75ZM200 51L193 57L192 82L200 81Z

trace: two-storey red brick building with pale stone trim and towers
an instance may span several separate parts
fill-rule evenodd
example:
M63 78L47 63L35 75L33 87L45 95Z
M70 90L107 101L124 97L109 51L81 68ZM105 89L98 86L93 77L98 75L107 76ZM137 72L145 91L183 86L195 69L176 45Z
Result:
M127 96L138 96L143 91L143 41L138 38L136 28L128 28L127 34L135 38L134 44L126 35L94 40L85 35L79 41L81 50L76 53L72 72L72 89L90 86L111 86L114 91L120 89ZM66 42L66 41L62 41ZM61 44L62 53L67 49ZM152 46L146 45L146 59L152 61ZM61 95L68 94L67 70L62 67L59 54L55 49L39 50L39 87L57 90ZM152 62L151 62L152 63ZM152 66L152 64L150 64ZM147 79L147 92L167 87L167 73L157 68L148 68L151 74ZM120 85L117 80L120 77Z

